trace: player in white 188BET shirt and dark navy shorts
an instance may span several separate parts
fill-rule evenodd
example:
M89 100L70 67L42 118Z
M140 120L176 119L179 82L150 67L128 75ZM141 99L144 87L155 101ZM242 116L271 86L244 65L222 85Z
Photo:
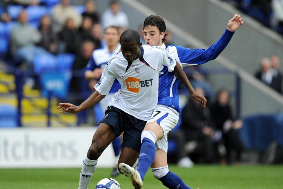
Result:
M189 81L182 67L160 47L141 46L139 33L126 30L120 38L122 52L112 58L96 84L96 91L81 105L60 103L61 113L78 113L102 100L115 79L121 89L94 133L92 144L83 159L79 189L87 189L96 164L106 147L124 131L119 163L133 166L140 151L141 132L156 108L159 70L167 66L187 86Z

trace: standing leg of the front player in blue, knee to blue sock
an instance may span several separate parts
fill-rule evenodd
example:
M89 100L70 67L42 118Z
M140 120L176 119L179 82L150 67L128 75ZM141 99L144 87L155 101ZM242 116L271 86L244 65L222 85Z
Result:
M165 141L163 143L165 144ZM166 139L166 143L167 143L167 139ZM168 143L167 143L167 147L165 145L162 145L162 148L164 148L163 146L166 148L165 150L167 151ZM167 188L191 189L182 181L182 179L178 175L172 173L169 170L167 164L167 153L164 150L162 149L156 150L156 155L151 165L151 168L152 168L153 176L158 180L160 180L162 184Z

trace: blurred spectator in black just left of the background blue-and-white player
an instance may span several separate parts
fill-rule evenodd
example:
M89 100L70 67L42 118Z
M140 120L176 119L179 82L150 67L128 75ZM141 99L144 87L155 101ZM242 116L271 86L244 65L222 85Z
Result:
M88 64L89 59L91 59L92 52L94 50L94 44L92 41L84 41L80 48L80 54L76 57L73 63L74 76L71 81L71 91L80 92L82 77L79 76L79 71L84 71L86 65Z

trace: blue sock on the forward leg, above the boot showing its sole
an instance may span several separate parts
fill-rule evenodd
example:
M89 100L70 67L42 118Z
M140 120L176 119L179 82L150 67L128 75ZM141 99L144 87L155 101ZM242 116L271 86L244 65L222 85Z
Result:
M152 140L144 138L139 153L139 167L136 169L144 180L144 175L152 164L155 157L155 145ZM175 188L174 188L175 189Z

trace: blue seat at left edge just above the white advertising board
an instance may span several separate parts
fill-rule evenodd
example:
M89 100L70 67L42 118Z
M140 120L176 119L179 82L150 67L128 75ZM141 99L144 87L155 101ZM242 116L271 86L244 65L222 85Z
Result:
M0 128L17 127L17 109L11 105L0 105Z

